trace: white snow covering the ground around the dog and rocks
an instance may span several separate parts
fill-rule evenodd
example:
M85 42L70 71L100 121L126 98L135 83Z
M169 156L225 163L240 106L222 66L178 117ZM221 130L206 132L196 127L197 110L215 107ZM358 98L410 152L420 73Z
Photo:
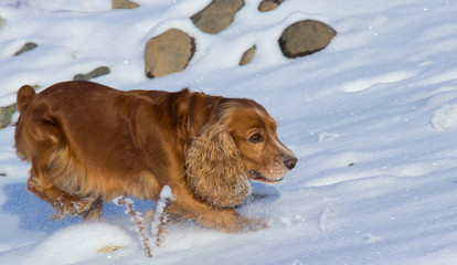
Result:
M245 0L216 35L189 19L211 0L109 2L0 1L0 106L24 84L44 88L106 65L111 73L94 81L119 89L190 86L257 100L297 168L276 186L254 183L261 195L237 209L268 219L267 230L168 224L148 258L113 203L100 223L47 220L51 206L25 189L30 165L15 156L10 126L0 130L0 264L457 264L456 1L287 0L258 13L259 0ZM305 19L338 34L287 60L277 39ZM196 53L185 71L149 80L146 42L169 28L193 35ZM39 46L12 56L30 41ZM254 44L252 63L238 66Z

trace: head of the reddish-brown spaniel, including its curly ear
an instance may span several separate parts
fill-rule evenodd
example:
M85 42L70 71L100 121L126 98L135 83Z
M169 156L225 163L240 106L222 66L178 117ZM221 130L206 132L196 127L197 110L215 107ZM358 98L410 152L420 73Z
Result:
M189 186L215 206L241 203L251 193L249 179L278 182L297 163L279 141L275 120L249 99L223 100L185 160Z

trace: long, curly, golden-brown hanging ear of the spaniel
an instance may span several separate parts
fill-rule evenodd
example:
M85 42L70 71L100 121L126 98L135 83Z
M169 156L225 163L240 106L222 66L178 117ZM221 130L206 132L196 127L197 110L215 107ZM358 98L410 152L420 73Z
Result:
M208 124L192 140L185 167L194 194L214 206L234 206L251 193L240 151L221 120Z

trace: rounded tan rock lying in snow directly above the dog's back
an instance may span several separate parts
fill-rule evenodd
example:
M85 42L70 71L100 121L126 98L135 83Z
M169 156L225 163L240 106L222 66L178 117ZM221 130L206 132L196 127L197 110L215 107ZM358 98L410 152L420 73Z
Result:
M181 72L195 52L193 38L170 29L151 38L146 44L145 72L149 78Z

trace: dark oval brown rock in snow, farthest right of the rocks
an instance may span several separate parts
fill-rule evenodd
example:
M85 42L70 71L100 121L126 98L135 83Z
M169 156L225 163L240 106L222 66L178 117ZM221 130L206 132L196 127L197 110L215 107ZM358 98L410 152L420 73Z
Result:
M316 20L304 20L289 25L279 39L286 57L294 59L325 49L337 32L328 24Z

